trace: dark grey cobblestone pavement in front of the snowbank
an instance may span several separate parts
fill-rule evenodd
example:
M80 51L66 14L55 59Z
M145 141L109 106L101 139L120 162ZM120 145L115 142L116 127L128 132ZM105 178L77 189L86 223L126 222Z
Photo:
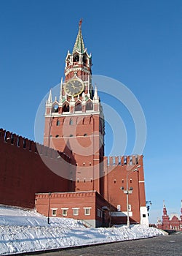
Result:
M182 256L182 233L44 253L47 256Z

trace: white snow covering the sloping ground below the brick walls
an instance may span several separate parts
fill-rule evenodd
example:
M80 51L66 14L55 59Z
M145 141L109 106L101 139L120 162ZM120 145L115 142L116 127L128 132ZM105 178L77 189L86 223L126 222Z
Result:
M154 227L133 225L87 228L74 219L42 217L36 211L0 206L0 255L125 241L164 233Z

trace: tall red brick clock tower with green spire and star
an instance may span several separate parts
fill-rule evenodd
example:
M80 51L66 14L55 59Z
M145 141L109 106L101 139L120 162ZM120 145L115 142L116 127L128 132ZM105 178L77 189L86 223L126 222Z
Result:
M97 190L103 194L104 118L98 90L92 86L92 57L84 47L82 20L72 53L66 56L65 80L60 97L47 99L44 145L63 151L73 159L76 181L71 190Z

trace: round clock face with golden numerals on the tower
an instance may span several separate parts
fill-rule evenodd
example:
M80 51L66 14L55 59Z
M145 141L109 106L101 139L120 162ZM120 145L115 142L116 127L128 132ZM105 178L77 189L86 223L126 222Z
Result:
M76 96L82 93L84 90L84 83L77 79L69 80L68 83L66 83L65 86L65 92L66 94L70 96Z

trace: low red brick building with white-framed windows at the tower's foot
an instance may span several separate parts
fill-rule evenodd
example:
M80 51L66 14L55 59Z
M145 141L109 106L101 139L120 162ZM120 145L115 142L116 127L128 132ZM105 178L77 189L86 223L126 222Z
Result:
M96 191L37 193L35 206L44 216L80 219L88 227L108 227L116 211Z

